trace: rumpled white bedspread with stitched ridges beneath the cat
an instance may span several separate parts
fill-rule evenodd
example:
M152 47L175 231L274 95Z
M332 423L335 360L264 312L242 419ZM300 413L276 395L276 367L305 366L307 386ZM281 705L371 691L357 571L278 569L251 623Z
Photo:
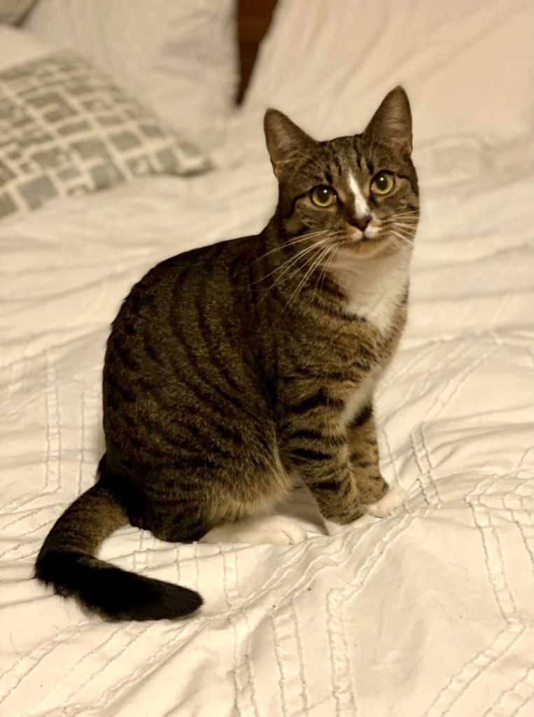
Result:
M185 622L87 617L32 565L94 480L120 300L160 258L262 227L268 162L0 225L2 717L532 713L531 153L461 137L418 150L411 315L378 394L383 473L409 492L398 515L327 537L297 496L287 520L308 538L293 546L107 541L115 564L199 589Z

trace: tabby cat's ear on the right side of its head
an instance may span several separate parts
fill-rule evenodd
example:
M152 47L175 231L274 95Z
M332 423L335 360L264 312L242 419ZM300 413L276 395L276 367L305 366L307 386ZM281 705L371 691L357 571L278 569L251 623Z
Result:
M371 143L385 141L400 154L411 154L410 103L402 87L395 87L383 98L363 136Z

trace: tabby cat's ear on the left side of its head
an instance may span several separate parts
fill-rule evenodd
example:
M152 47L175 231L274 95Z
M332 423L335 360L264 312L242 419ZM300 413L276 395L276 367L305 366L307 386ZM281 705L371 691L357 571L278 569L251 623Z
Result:
M292 159L310 152L315 140L278 110L267 110L263 126L272 168L280 179Z

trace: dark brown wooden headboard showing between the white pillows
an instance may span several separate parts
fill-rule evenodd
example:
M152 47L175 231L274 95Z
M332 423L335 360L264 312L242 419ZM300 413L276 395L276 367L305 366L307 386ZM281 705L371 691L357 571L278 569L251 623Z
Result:
M244 92L247 90L258 45L269 29L275 5L276 0L237 0L239 69L241 71L237 104L241 103Z

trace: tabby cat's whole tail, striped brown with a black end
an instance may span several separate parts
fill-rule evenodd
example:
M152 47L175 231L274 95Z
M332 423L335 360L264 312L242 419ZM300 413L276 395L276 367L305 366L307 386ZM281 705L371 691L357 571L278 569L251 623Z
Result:
M173 619L194 612L202 604L197 592L95 557L100 543L126 523L120 498L100 480L58 518L37 557L35 576L107 619Z

